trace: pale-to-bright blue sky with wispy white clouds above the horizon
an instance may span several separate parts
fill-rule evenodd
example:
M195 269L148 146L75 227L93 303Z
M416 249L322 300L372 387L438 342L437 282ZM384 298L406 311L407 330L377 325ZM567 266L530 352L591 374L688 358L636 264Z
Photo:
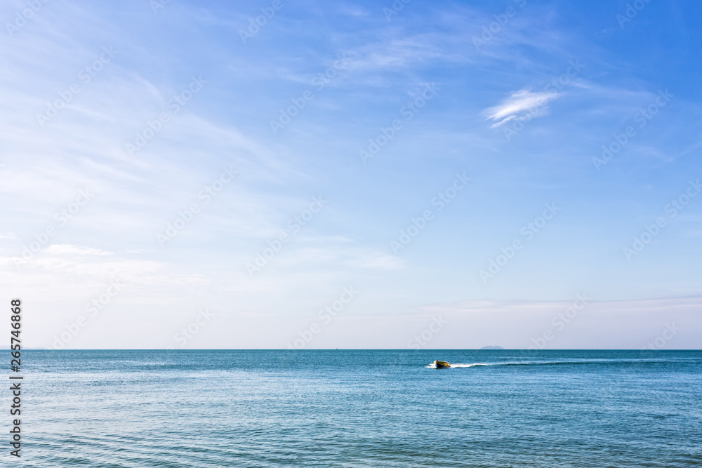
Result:
M547 347L699 347L696 2L36 5L0 41L32 345L402 348L440 310L424 347L521 348L585 293Z

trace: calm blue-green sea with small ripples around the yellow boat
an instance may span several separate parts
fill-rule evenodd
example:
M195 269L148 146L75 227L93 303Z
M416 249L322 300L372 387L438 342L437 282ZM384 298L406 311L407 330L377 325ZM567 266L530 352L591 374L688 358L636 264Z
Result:
M702 467L699 351L32 350L21 375L2 467Z

